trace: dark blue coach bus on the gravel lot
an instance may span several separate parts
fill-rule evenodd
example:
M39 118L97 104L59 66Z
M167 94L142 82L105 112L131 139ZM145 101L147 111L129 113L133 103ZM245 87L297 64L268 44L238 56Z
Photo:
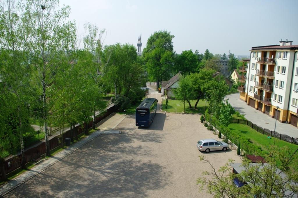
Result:
M136 108L136 126L149 127L157 110L157 99L146 98Z

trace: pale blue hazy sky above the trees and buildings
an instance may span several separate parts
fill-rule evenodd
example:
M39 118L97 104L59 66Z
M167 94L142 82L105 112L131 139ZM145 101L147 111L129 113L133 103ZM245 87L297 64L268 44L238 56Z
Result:
M279 44L281 39L298 45L297 0L60 0L71 7L78 38L86 35L84 24L105 29L104 45L130 43L136 46L142 34L142 49L154 32L167 30L175 37L176 53L197 49L204 53L249 55L253 46ZM80 42L83 47L83 42Z

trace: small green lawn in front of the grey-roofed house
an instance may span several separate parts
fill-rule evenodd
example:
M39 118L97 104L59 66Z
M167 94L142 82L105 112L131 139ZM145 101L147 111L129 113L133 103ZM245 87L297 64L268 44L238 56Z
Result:
M190 100L192 107L195 106L196 100ZM208 107L208 102L207 102ZM184 103L181 100L168 100L168 105L166 109L166 100L162 101L162 110L167 112L177 112L181 113L184 111ZM200 100L197 105L197 109L190 109L188 102L185 101L185 113L204 113L205 112L205 101Z

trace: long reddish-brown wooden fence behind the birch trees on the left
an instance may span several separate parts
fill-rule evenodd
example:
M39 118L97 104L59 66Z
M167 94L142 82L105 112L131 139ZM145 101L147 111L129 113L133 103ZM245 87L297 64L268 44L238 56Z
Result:
M101 116L96 116L95 117L95 123L100 122L103 120L105 117L110 115L111 113L115 112L115 107L112 106L109 109L105 111L105 113ZM88 123L88 128L90 129L92 127L92 120ZM86 127L86 123L82 125L78 125L73 129L73 138L76 139L81 133L84 132L84 128ZM70 130L67 130L63 133L63 142L65 143L65 138L71 138L71 133ZM59 137L58 135L55 136L54 138L49 140L49 147L50 150L53 150L60 146L59 143ZM30 149L25 149L24 155L25 155L25 161L26 163L32 161L34 158L39 158L41 155L44 155L46 153L46 143L45 142L39 142L36 144L34 147ZM10 172L13 172L14 170L18 169L21 167L21 154L12 156L10 158L5 159L5 174L8 174Z

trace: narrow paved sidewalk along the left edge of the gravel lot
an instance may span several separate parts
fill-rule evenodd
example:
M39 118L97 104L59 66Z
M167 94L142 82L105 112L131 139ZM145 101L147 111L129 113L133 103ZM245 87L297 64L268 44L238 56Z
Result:
M48 160L44 160L44 162L42 162L41 164L38 164L37 166L24 172L23 174L16 177L15 179L4 184L3 186L0 187L0 197L4 196L8 192L17 188L22 183L25 183L27 180L30 180L32 177L36 176L37 174L43 172L45 169L57 163L61 159L65 158L67 155L71 154L72 152L76 151L81 146L88 144L94 138L97 138L102 134L120 134L121 133L120 131L114 131L111 129L114 129L114 127L116 127L124 118L125 116L120 114L114 114L114 115L108 116L103 121L98 123L99 124L98 127L102 127L103 129L107 129L107 130L98 130L96 132L91 133L88 137L76 142L75 144L72 144L71 146L59 152L55 156L52 156Z

